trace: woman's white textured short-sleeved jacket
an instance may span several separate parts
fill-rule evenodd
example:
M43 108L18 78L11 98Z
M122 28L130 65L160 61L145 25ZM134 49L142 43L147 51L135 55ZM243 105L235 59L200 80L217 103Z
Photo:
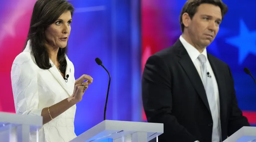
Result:
M15 111L22 115L41 116L43 108L50 107L73 94L75 77L74 65L66 57L65 82L62 75L50 60L52 67L40 69L30 54L30 40L26 49L14 60L11 68L12 92ZM68 142L76 137L74 118L76 105L66 110L39 129L39 142ZM30 133L30 141L36 142L36 132Z

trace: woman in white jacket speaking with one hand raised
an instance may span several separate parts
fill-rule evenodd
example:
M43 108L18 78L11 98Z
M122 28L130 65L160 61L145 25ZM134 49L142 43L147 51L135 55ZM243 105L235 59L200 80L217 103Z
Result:
M66 0L37 0L27 44L12 65L16 113L43 117L39 142L68 142L76 137L76 103L92 83L88 75L75 80L74 65L66 56L73 12ZM36 132L30 140L36 141Z

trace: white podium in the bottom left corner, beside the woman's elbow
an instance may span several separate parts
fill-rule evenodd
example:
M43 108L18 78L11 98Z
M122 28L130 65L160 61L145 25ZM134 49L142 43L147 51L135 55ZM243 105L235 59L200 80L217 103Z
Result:
M0 141L29 142L30 132L38 134L42 125L42 116L0 112Z

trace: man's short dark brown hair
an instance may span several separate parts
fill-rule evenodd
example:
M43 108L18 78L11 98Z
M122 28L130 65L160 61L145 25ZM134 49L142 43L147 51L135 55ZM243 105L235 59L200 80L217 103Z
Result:
M182 23L182 15L184 13L188 13L190 18L192 19L194 14L197 12L197 7L201 4L212 4L215 6L219 6L222 12L222 19L226 12L228 12L228 6L226 6L222 0L187 0L185 5L183 6L181 13L180 13L180 25L181 31L184 32L184 24Z

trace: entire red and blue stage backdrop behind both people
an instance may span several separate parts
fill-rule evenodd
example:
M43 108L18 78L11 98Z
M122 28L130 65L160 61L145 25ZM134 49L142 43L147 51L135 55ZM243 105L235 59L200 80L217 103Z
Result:
M1 1L0 111L15 112L10 80L11 65L24 47L35 1ZM112 79L106 118L145 121L141 104L140 74L148 56L171 46L181 34L178 16L185 0L70 2L76 11L71 24L68 56L75 66L75 78L82 74L94 78L83 100L77 104L76 134L81 134L103 120L108 75L96 64L96 57L103 61ZM224 2L229 6L229 13L221 24L215 42L207 49L230 65L239 106L251 124L256 124L255 84L242 71L246 66L253 74L256 72L256 20L248 14L254 12L253 5L256 2Z

